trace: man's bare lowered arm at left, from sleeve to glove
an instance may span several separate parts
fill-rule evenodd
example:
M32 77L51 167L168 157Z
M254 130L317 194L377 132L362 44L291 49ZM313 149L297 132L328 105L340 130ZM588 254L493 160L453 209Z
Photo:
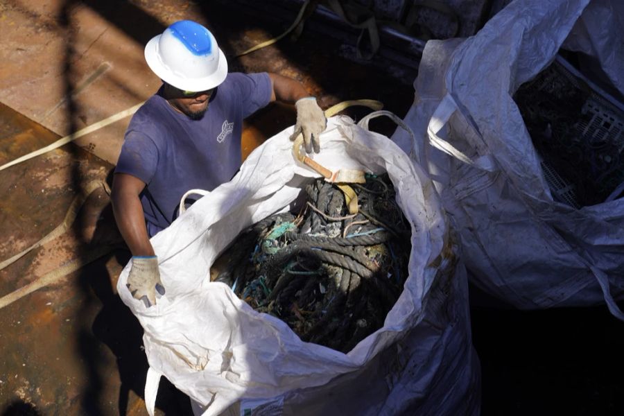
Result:
M132 256L154 256L139 194L145 182L127 173L115 173L110 194L113 214Z

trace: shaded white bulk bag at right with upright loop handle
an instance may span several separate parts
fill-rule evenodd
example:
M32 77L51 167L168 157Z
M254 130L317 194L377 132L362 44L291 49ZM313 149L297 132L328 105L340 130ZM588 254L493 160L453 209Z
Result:
M426 44L404 121L453 218L474 283L520 309L606 302L624 318L624 199L555 202L512 95L560 46L624 93L624 3L516 0L467 40ZM409 151L399 130L392 139Z

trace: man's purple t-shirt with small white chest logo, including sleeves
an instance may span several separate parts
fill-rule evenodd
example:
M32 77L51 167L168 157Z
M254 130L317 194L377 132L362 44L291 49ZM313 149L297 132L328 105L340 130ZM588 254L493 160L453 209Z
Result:
M150 236L177 217L184 193L232 179L241 166L243 119L270 102L271 81L267 73L229 73L200 120L177 112L161 94L132 116L115 168L146 183L140 198Z

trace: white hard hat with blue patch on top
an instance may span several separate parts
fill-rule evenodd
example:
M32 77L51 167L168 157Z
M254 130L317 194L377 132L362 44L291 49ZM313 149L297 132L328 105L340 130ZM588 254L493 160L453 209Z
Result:
M204 26L190 20L176 21L145 46L150 69L183 91L206 91L223 83L227 60L216 39Z

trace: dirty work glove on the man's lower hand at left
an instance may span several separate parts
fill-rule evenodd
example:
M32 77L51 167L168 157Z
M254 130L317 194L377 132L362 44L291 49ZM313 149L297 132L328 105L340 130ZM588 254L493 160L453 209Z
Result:
M143 300L146 307L155 305L156 291L164 295L164 286L162 286L158 271L158 257L132 257L132 268L125 286L132 293L132 297Z

